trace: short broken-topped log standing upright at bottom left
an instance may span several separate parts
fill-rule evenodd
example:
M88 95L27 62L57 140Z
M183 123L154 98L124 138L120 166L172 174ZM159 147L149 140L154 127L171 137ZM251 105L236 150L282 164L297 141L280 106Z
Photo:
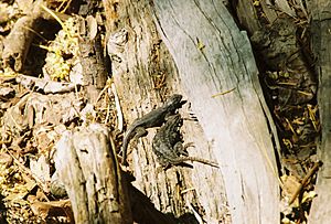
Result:
M132 223L127 185L106 127L64 132L54 160L76 223Z

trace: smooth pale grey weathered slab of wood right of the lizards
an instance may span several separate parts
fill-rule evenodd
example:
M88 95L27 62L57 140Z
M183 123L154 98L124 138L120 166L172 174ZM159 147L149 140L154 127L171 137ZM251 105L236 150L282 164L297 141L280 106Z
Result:
M246 33L222 3L156 0L154 6L156 23L181 84L211 142L211 152L223 166L233 222L279 222L267 108ZM234 90L217 96L229 89Z

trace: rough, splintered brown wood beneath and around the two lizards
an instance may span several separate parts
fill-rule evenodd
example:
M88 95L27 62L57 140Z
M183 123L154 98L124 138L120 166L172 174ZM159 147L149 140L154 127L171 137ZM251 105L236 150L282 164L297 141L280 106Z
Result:
M111 1L108 6L111 6ZM111 7L108 9L111 10ZM107 14L110 20L110 36L118 34L114 30L128 31L128 41L116 57L120 60L114 60L111 68L125 120L130 125L137 117L161 105L160 102L167 96L183 92L177 66L152 21L150 2L120 1L116 4L116 13L108 11ZM114 14L117 15L117 26L113 23ZM186 104L186 109L189 106ZM186 114L185 117L188 116ZM193 141L195 146L190 149L190 156L214 160L209 150L212 142L205 139L197 122L184 121L182 129L190 134L184 135L185 141ZM151 149L153 132L154 130L150 130L138 145L134 141L129 145L128 162L136 177L132 184L163 213L177 217L193 216L195 222L202 220L207 223L228 223L231 217L222 173L203 164L194 164L193 169L174 167L160 171Z

